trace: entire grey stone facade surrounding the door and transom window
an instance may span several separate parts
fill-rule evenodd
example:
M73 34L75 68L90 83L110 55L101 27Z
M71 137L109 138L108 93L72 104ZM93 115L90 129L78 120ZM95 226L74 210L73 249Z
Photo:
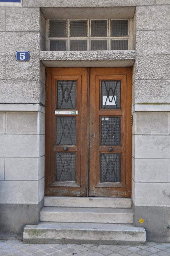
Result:
M133 51L45 52L41 8L125 6L136 7ZM0 17L1 232L22 236L24 225L39 221L44 198L45 66L133 66L134 224L146 228L148 240L170 241L170 2L22 0L0 2ZM30 51L30 61L16 62L17 50Z

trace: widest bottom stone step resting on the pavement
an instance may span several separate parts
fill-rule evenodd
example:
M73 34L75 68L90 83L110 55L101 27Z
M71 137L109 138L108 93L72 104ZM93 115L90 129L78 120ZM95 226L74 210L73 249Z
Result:
M25 243L139 244L145 243L144 228L129 224L40 222L24 228Z

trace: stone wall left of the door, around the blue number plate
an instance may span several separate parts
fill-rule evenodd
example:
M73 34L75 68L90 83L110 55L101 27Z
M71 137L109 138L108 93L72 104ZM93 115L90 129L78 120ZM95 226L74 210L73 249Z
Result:
M20 235L25 224L37 223L44 196L44 32L39 8L0 7L2 233ZM16 62L17 50L30 51L30 61Z

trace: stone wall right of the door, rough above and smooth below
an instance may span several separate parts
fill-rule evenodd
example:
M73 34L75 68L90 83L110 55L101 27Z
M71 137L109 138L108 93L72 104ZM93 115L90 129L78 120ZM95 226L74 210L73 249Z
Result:
M155 111L134 113L132 188L134 223L148 240L168 241L170 224L170 5L136 8L133 103ZM162 5L160 5L162 4ZM170 105L169 105L170 106ZM161 110L160 108L160 110ZM170 108L169 108L170 109ZM144 219L144 224L139 223Z

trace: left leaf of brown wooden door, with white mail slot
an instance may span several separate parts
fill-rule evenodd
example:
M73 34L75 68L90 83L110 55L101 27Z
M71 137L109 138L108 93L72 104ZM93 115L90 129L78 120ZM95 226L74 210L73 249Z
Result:
M87 172L87 69L51 68L47 80L45 193L83 196Z

